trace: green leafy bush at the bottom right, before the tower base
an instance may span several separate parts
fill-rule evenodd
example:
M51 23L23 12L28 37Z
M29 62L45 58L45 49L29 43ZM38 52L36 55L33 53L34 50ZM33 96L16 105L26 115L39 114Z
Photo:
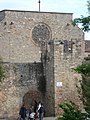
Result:
M63 116L58 117L57 120L85 120L87 117L86 114L81 113L78 107L72 102L61 103L59 107L63 109L64 113Z

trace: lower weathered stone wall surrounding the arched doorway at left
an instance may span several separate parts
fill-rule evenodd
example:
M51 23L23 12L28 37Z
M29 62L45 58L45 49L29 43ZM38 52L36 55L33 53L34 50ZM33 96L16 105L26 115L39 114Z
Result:
M39 77L43 76L41 63L4 64L5 79L0 84L0 116L17 116L23 102L29 109L34 100L41 100ZM32 68L32 69L31 69ZM30 94L27 96L27 94Z

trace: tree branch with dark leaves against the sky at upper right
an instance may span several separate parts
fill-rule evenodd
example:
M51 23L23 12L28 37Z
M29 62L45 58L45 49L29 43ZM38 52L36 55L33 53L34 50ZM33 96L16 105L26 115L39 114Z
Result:
M73 20L73 25L78 25L79 23L82 24L82 29L86 32L86 31L90 31L90 0L87 1L87 9L88 9L88 13L89 15L87 17L84 17L83 15L81 16L81 18L75 18Z

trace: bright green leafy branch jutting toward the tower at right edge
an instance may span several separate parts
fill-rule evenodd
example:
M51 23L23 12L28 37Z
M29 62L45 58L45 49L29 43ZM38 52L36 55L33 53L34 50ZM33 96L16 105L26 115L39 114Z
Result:
M90 76L90 64L79 65L74 70L82 75Z

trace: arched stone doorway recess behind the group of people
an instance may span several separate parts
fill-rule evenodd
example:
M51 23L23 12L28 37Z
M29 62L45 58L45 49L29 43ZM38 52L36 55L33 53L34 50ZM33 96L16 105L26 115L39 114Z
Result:
M30 109L34 105L34 100L36 100L37 102L42 101L42 96L40 92L30 90L23 96L23 103L25 104L27 109Z

